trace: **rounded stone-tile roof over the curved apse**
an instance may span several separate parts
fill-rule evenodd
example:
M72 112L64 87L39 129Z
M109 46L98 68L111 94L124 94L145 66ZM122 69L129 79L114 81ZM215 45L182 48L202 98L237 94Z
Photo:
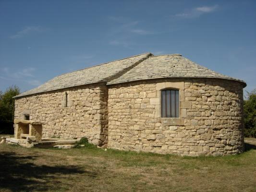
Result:
M107 84L171 77L228 79L239 81L246 86L245 82L242 80L209 70L206 67L182 57L180 54L151 56L140 62L133 69L122 74L122 76L109 81Z

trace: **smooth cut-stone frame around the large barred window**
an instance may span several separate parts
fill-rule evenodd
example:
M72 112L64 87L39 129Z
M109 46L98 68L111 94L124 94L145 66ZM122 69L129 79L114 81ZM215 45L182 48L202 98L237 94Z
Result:
M166 89L179 90L179 117L178 118L162 118L161 116L161 91ZM186 110L192 107L191 101L186 101L184 96L184 82L162 82L156 84L157 98L154 101L156 104L156 116L163 126L178 125L183 126L183 119L186 118Z

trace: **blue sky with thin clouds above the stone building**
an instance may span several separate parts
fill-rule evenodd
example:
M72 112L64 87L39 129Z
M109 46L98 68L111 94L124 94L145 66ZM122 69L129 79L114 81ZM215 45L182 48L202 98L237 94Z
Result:
M256 88L256 0L0 0L0 90L151 52Z

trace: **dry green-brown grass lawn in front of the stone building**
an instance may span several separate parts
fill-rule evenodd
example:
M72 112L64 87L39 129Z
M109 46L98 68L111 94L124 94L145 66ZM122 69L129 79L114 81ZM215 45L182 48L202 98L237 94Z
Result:
M255 142L255 143L254 143ZM1 192L255 192L256 139L241 155L182 157L0 145Z

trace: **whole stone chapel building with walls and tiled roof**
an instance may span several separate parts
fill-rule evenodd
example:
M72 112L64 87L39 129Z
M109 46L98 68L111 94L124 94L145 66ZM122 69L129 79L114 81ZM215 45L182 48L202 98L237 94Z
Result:
M66 73L15 96L15 119L41 122L42 137L87 137L120 150L238 154L245 86L180 54L146 53ZM162 105L174 105L163 103L162 90L178 90L177 117L163 117Z

